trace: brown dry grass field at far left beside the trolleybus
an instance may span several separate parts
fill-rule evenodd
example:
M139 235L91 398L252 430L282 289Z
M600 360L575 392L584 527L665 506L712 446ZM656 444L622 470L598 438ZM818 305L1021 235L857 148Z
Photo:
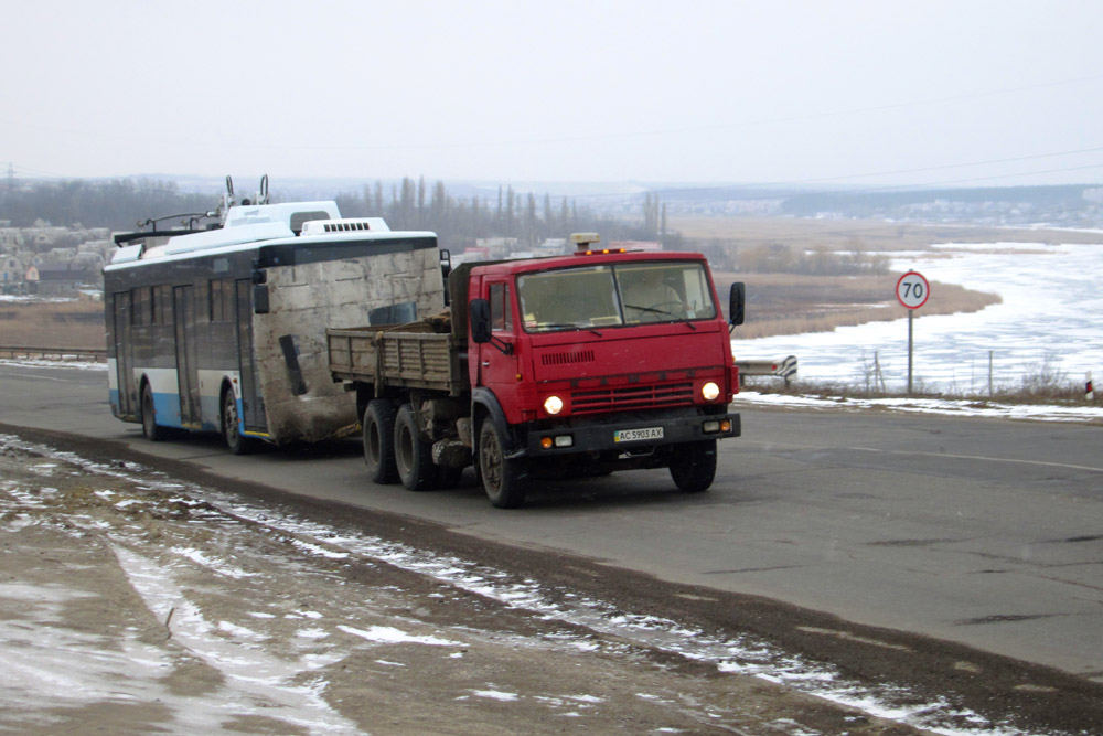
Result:
M0 345L101 349L104 305L94 301L0 301Z

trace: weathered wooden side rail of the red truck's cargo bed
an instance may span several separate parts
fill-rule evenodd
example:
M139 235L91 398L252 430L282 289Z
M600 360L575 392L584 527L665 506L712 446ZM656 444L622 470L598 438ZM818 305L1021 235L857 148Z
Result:
M329 329L334 381L430 388L457 396L469 391L467 352L450 332L427 322Z

